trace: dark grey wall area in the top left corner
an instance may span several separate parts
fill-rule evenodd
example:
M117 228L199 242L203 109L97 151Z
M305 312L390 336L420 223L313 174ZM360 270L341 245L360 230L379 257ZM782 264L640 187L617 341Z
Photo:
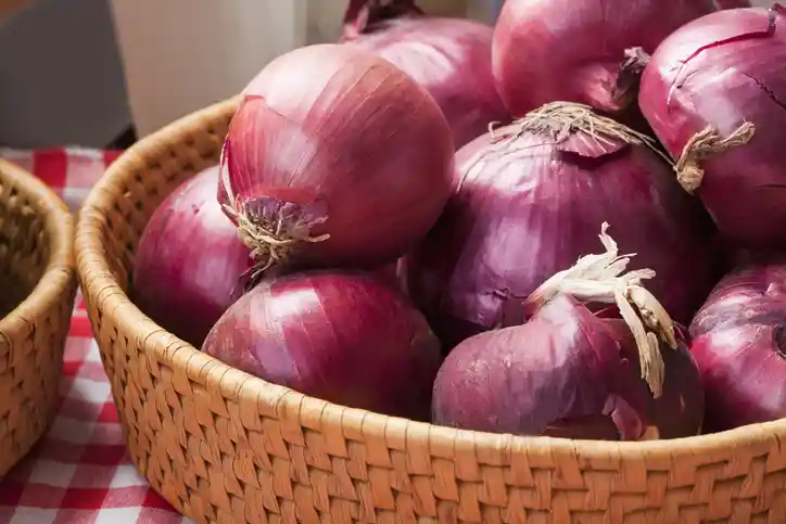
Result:
M0 145L103 146L129 122L105 0L30 0L0 23Z

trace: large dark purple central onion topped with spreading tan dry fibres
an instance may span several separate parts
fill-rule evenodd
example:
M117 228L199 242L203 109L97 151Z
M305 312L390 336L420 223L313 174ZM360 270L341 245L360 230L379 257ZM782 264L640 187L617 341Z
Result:
M554 103L457 153L457 194L408 260L410 296L443 343L494 328L616 223L687 324L714 284L711 223L650 142L587 106ZM510 298L515 298L512 302Z

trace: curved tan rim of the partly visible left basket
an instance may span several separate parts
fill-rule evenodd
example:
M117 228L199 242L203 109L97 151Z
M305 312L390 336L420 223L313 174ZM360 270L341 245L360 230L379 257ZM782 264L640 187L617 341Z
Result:
M43 274L30 294L0 318L0 334L18 340L30 329L26 318L36 318L49 311L68 292L75 268L75 225L74 216L65 203L38 177L3 159L0 159L0 171L2 178L25 193L35 212L43 217L50 248Z

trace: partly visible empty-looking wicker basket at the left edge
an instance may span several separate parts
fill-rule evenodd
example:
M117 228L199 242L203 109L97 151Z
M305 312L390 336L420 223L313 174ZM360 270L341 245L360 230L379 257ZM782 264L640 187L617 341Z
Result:
M68 209L0 161L0 476L52 421L75 293Z

